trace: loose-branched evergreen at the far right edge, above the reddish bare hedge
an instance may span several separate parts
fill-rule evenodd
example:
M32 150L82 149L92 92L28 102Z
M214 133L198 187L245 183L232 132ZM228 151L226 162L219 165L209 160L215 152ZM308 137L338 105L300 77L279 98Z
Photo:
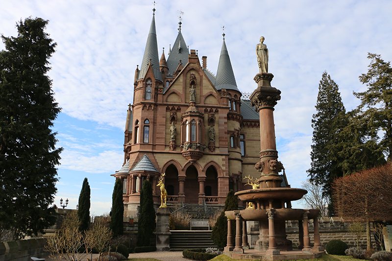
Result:
M359 80L368 86L368 90L354 95L361 100L358 116L366 123L370 138L380 145L388 161L392 161L392 68L391 62L385 62L379 54L368 53L371 60L368 73L359 76ZM383 137L379 137L379 133Z

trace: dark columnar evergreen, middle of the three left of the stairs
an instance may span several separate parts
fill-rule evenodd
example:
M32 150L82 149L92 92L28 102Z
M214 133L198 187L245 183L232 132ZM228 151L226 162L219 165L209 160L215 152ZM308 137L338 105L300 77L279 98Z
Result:
M116 179L112 196L112 215L110 218L110 229L113 231L113 237L123 235L123 182Z

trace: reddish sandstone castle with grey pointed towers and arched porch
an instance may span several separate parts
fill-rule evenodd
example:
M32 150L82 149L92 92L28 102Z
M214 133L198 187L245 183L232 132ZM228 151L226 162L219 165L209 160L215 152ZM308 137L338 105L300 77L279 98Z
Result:
M222 206L229 190L251 189L245 176L260 176L259 114L237 86L224 34L215 76L207 57L200 65L187 47L181 22L167 59L159 58L154 14L127 110L123 166L112 174L123 181L124 209L137 213L145 179L158 206L160 173L169 205Z

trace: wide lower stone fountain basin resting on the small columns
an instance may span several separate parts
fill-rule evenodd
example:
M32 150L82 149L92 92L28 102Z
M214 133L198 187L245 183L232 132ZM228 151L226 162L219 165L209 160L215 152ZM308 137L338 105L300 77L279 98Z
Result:
M303 212L309 211L308 218L317 218L319 210L302 210L302 209L275 209L273 219L275 220L301 220L303 219ZM228 219L236 219L235 213L240 213L244 221L262 221L268 220L266 209L245 209L240 211L225 211Z

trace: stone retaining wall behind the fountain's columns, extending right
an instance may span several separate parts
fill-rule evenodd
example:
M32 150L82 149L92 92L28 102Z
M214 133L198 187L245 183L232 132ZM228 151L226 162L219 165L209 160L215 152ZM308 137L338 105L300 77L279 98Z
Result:
M248 229L248 240L249 243L254 246L254 242L258 239L259 234L259 224L258 222L248 221L247 222ZM350 222L345 222L343 218L340 217L322 217L319 219L319 232L320 232L320 240L321 244L325 247L325 245L332 239L339 239L347 243L348 247L353 247L356 245L356 237L348 232L348 226ZM370 223L370 227L372 224ZM310 240L313 244L313 219L309 219L309 234ZM288 220L286 221L286 234L287 239L293 242L293 248L296 248L298 245L298 221L297 220ZM374 237L371 236L372 247L376 247ZM360 247L366 249L366 235L359 240Z

